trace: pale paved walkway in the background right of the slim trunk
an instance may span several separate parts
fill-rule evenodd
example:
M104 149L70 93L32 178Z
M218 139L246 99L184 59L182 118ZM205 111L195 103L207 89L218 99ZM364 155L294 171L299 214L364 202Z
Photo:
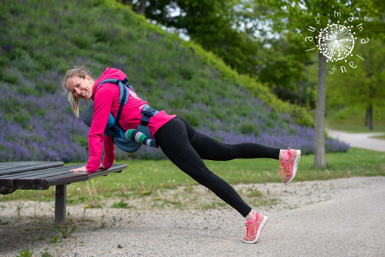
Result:
M352 147L385 152L385 140L372 138L373 136L381 136L385 133L347 133L334 129L326 129L326 132L332 138L345 141Z

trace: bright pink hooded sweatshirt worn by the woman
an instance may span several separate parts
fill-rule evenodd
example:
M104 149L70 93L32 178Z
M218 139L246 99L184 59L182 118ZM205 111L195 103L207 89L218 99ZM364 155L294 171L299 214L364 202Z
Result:
M118 69L105 69L102 76L95 81L92 100L94 100L94 116L92 117L92 124L88 134L88 146L90 150L90 157L85 167L88 171L95 172L100 167L100 158L102 157L102 144L104 143L104 158L103 165L106 169L112 166L115 160L114 143L108 136L104 136L104 129L107 126L107 121L110 113L116 118L119 110L119 87L115 84L105 83L97 87L97 85L105 79L119 79L123 80L127 76ZM123 107L121 117L119 119L120 126L125 129L136 129L141 123L142 108L147 102L140 99L134 91L129 89L130 95L127 104ZM150 129L152 138L155 132L161 128L176 115L168 115L165 111L159 111L152 116L148 127Z

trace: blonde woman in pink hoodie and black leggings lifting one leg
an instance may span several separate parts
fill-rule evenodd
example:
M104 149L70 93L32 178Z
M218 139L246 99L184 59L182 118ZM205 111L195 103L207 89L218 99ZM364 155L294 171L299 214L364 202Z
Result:
M127 76L120 70L107 69L96 81L92 79L84 67L74 67L67 72L63 88L68 91L68 100L72 104L75 116L79 117L79 99L94 101L94 116L88 136L89 160L87 166L70 171L95 172L99 168L108 169L115 159L114 144L108 136L104 136L110 113L116 117L119 109L119 87L105 83L97 87L105 79L123 81ZM129 89L129 100L122 109L119 124L123 129L136 129L142 118L141 109L147 102L140 99ZM176 115L168 115L159 111L152 116L149 124L152 138L160 146L163 153L172 163L191 176L199 184L206 186L224 202L235 208L246 218L245 237L243 242L255 243L268 220L267 216L254 211L226 181L212 173L202 159L227 161L236 158L272 158L280 160L281 174L286 175L285 185L295 177L301 150L282 150L255 143L224 144L213 138L196 132L188 121ZM102 145L104 144L104 158ZM285 170L285 172L283 172Z

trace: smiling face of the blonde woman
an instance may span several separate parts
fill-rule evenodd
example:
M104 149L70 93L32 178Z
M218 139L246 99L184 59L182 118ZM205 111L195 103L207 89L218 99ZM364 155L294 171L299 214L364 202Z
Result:
M67 80L67 90L75 97L89 101L92 97L94 83L88 74L85 75L84 79L78 76L71 76Z

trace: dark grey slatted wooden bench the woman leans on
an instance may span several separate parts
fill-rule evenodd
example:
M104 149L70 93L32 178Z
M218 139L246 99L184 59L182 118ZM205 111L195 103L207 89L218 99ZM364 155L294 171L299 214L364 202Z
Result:
M85 166L85 164L63 166L60 161L17 161L0 163L0 193L13 193L18 189L47 190L56 186L55 190L55 223L61 223L65 218L67 200L67 185L70 183L90 180L98 176L107 176L112 172L122 172L126 164L114 164L108 170L96 172L70 172L70 169Z

